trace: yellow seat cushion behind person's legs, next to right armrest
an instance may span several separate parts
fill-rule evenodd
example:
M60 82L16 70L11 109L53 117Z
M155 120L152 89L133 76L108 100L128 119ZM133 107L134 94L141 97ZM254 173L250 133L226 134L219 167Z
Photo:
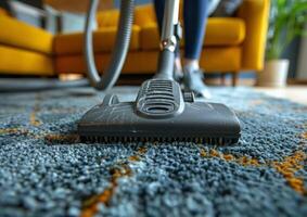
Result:
M241 18L214 17L208 20L205 46L238 46L245 38L245 24ZM159 47L159 37L156 24L149 24L141 30L141 49L153 50ZM182 39L181 46L184 43Z

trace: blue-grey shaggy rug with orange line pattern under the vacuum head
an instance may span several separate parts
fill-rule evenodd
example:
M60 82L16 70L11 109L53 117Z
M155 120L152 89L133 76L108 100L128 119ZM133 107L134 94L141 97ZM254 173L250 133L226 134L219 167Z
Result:
M0 93L0 216L306 217L307 106L210 90L241 120L235 145L84 144L75 123L103 93Z

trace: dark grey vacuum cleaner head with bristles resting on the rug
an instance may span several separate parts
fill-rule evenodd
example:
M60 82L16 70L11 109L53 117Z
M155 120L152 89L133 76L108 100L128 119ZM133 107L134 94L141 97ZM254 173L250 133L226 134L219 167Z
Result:
M195 141L231 144L240 138L240 123L223 104L194 102L170 79L143 82L136 102L114 94L92 107L78 123L82 141Z

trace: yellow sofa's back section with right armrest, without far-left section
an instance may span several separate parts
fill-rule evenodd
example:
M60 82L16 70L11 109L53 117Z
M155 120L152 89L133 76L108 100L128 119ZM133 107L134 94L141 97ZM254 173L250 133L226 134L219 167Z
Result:
M269 0L244 0L235 17L209 18L201 66L207 72L231 72L234 75L240 71L260 71L264 65L268 14ZM110 58L118 15L116 10L98 13L99 29L94 33L94 47L100 69L104 68ZM81 40L82 34L55 36L57 73L85 72ZM138 7L124 73L155 72L158 44L153 5Z

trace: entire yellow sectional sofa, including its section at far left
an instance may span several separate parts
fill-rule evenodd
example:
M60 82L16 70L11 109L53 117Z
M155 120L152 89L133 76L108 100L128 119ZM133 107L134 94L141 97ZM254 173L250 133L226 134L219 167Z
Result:
M201 66L207 72L233 73L233 75L238 75L241 71L260 71L264 64L269 2L269 0L244 0L235 17L209 18ZM93 33L93 43L100 71L104 69L110 59L118 16L117 10L98 13L99 29ZM7 24L2 24L0 20L0 29L1 26L9 28L9 17L0 15L0 18L7 20ZM22 24L18 23L18 25ZM11 41L12 39L9 39L11 36L5 37L5 34L3 34L3 38L1 30L0 55L8 53L14 56L13 52L17 52L18 59L8 59L9 68L2 67L3 61L0 59L0 73L5 72L5 69L13 72L18 68L21 72L31 73L42 71L43 75L85 73L82 33L52 37L43 30L34 29L35 27L30 29L27 26L28 29L26 27L21 29L11 24L10 28L12 38L17 39ZM184 44L184 41L181 44ZM2 51L1 49L9 49L10 51ZM158 31L153 5L137 7L129 53L123 73L154 73L157 65L157 54ZM25 66L23 68L15 66L14 60L31 60L36 63L29 64L33 67ZM28 61L24 62L27 63ZM39 67L36 67L36 65ZM233 77L235 78L235 76ZM235 79L233 79L233 82L235 82Z

